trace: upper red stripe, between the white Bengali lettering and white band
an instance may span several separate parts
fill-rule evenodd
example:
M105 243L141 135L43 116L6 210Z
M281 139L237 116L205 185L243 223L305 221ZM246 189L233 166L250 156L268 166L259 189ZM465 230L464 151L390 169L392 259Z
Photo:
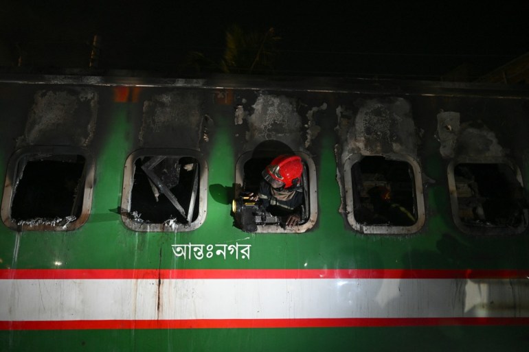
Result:
M527 279L529 270L1 269L0 279Z

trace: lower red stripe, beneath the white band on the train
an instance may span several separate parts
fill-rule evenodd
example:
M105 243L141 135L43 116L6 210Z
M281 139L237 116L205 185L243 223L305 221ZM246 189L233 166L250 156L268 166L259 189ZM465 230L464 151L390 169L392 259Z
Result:
M0 321L0 330L234 329L292 327L411 327L529 325L529 318L313 318L196 320Z

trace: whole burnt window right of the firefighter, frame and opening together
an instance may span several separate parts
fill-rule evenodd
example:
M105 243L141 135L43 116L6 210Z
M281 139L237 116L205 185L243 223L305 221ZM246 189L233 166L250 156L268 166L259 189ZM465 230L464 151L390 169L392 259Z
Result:
M414 159L357 154L344 165L347 218L354 230L383 234L420 230L425 206L420 167Z

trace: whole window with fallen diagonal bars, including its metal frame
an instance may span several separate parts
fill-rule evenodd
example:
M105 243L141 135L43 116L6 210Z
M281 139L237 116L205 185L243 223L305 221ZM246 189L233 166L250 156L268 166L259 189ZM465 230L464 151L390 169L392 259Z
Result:
M125 163L121 214L134 231L192 231L205 220L207 165L193 150L139 150Z

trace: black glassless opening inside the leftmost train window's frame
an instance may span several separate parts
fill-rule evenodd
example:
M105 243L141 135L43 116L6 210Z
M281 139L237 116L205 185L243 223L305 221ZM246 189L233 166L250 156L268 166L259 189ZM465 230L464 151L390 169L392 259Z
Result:
M11 217L79 218L85 189L82 155L25 156L17 165Z

